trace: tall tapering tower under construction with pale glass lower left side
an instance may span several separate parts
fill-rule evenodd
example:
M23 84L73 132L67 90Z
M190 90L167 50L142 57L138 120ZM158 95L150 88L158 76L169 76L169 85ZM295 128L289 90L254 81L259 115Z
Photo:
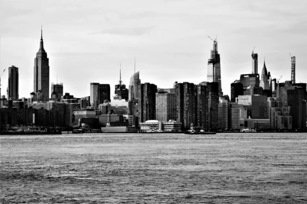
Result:
M207 82L218 83L218 96L223 96L221 81L221 63L220 54L217 52L217 40L213 41L213 49L211 49L210 59L208 60Z

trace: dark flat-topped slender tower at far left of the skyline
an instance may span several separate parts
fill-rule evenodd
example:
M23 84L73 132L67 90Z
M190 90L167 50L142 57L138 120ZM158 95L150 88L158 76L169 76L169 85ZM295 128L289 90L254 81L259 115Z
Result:
M9 67L8 99L18 100L18 67Z

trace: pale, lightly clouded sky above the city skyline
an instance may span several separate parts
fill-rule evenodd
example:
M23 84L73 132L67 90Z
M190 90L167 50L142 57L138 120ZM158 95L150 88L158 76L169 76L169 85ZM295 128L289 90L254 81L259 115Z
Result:
M174 82L207 80L210 49L217 37L222 89L251 73L251 53L264 59L272 78L307 83L307 4L302 1L41 1L0 0L1 95L8 67L19 68L19 98L33 92L34 58L40 29L51 83L75 97L90 95L90 83L110 84L121 76L128 87L140 71L141 83L172 88Z

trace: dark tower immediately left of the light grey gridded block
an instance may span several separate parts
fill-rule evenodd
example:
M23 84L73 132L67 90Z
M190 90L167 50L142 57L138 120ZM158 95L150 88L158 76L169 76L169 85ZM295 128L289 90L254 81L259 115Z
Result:
M156 119L156 93L158 91L157 85L145 83L141 84L139 88L139 104L140 104L140 122Z

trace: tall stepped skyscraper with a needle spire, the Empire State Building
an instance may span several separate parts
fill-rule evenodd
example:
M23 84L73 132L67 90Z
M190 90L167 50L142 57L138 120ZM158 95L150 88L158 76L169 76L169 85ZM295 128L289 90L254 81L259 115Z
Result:
M43 101L49 100L49 59L43 48L42 30L39 50L34 59L34 93L41 92Z

